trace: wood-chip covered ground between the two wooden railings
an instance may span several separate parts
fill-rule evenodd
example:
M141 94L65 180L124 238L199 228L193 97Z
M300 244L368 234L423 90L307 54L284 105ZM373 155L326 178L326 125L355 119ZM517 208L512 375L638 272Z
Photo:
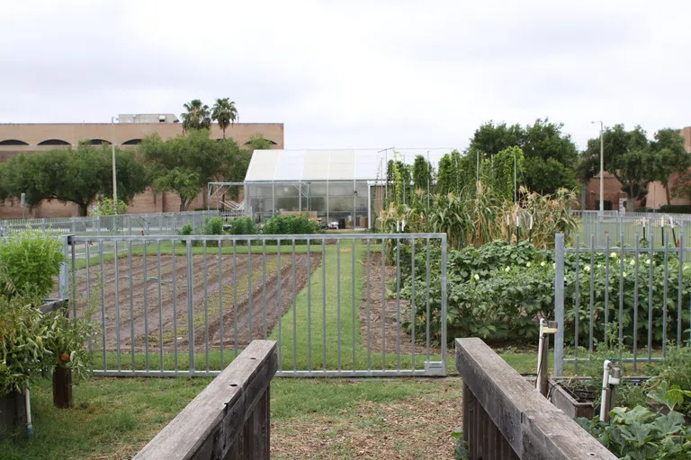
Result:
M444 388L435 396L389 403L356 403L346 417L272 421L271 457L453 458L453 429L462 426L462 397Z

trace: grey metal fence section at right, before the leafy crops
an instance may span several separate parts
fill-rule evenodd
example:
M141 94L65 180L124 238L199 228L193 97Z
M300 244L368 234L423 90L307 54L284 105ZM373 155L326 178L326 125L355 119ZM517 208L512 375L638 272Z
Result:
M564 363L578 372L598 342L615 342L619 358L633 363L635 372L639 362L665 358L670 341L677 347L691 341L689 233L680 226L677 241L668 231L661 243L635 233L630 244L622 231L616 240L605 234L601 245L596 234L585 242L577 235L572 247L565 247L563 234L556 235L555 375L563 375ZM607 336L612 323L615 338Z

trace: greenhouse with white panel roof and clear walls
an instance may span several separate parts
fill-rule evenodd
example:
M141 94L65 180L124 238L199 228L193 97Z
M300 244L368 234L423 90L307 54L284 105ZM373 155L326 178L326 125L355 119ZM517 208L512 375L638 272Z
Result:
M210 202L231 186L243 187L244 201L225 208L267 218L305 213L332 228L371 228L383 207L386 163L394 155L412 164L416 155L435 163L449 149L255 150L243 182L211 182Z

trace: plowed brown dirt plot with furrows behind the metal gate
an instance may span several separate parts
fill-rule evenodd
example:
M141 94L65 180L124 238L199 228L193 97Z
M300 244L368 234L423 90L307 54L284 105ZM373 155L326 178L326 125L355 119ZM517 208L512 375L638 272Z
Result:
M320 259L319 254L312 255L312 271L319 267ZM233 261L232 254L223 254L219 258L218 253L210 249L206 264L202 254L193 255L192 262L192 314L194 342L198 349L205 348L207 323L210 347L220 345L220 300L223 305L224 346L235 345L237 342L238 348L244 347L252 339L263 338L265 330L267 334L270 333L279 315L284 314L292 305L291 256L285 255L281 258L280 307L275 254L269 254L265 259L262 254L252 254L251 257L238 254ZM138 256L131 259L131 269L130 259L121 258L117 273L114 262L103 264L103 284L100 266L79 270L77 273L77 297L82 301L80 308L85 305L88 277L92 296L90 304L93 305L94 321L98 324L97 330L101 334L95 342L101 345L104 336L105 348L108 351L117 349L118 343L122 351L130 350L132 341L135 350L139 351L145 348L147 337L149 352L152 352L152 347L160 347L161 338L166 349L172 348L175 341L178 347L189 343L190 305L187 300L190 286L187 279L186 256L175 256L174 270L173 257L161 255L160 277L156 255L148 256L146 264L146 279L144 258ZM117 290L115 279L118 280ZM295 257L296 294L305 286L307 279L307 255L298 254ZM266 315L263 313L264 305ZM249 331L250 311L252 331ZM237 340L235 323L238 326Z

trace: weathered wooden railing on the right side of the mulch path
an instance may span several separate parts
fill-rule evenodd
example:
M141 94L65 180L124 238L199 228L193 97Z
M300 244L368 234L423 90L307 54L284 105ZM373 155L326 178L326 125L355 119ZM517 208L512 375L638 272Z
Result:
M471 460L616 459L480 339L456 339L456 368Z

